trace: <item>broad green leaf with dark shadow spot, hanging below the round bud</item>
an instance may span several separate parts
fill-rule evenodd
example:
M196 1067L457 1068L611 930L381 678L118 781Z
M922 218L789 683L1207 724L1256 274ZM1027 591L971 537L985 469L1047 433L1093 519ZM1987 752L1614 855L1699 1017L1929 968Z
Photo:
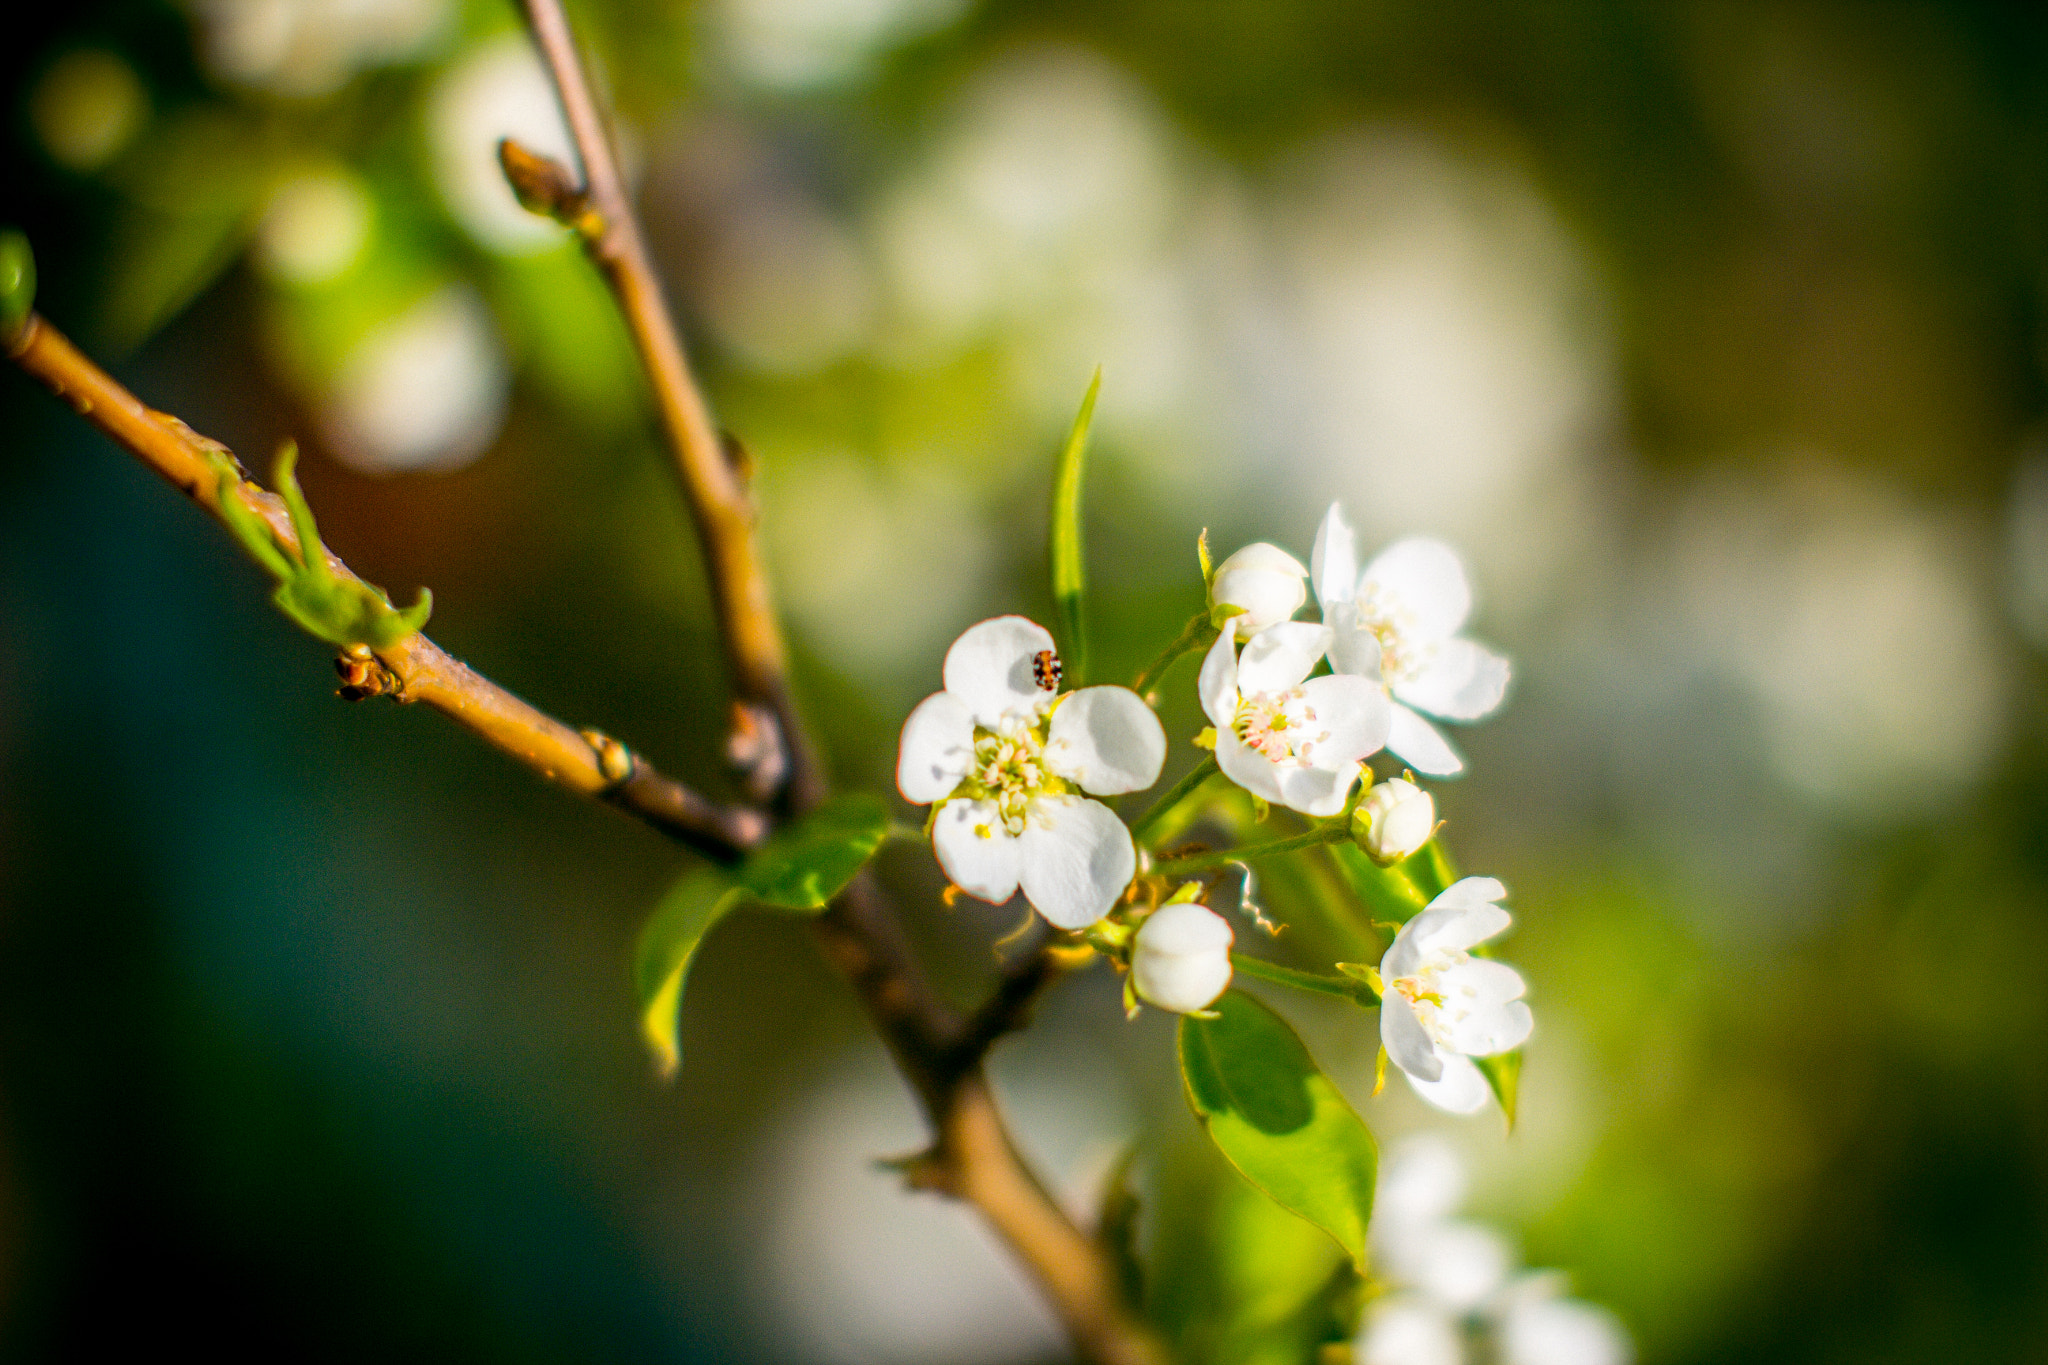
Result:
M1182 1017L1180 1074L1210 1142L1282 1207L1366 1265L1378 1146L1288 1023L1229 990Z

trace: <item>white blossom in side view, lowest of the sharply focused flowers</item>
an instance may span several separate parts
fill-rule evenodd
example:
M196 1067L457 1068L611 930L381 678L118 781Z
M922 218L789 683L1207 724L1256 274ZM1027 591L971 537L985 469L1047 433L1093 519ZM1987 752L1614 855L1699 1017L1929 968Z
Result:
M1507 927L1505 896L1489 876L1452 882L1380 960L1380 1046L1417 1095L1450 1113L1477 1113L1491 1095L1473 1058L1511 1052L1534 1027L1522 974L1466 952Z

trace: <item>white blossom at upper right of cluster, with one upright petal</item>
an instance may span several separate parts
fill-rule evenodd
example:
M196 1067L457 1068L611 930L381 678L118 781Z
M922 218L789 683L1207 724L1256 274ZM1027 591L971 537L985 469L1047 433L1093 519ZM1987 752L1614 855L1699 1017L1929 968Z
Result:
M1473 585L1458 553L1442 540L1409 536L1358 569L1358 546L1337 503L1315 532L1313 581L1331 628L1329 665L1374 677L1393 696L1386 749L1415 772L1438 778L1464 759L1430 724L1481 720L1507 696L1503 655L1458 630L1473 614Z

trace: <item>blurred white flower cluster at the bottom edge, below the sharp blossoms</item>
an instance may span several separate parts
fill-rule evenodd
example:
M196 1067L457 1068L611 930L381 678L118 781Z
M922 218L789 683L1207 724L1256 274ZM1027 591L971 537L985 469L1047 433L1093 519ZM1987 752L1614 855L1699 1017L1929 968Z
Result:
M1372 1218L1372 1269L1386 1293L1352 1342L1356 1365L1628 1365L1628 1332L1604 1308L1565 1297L1559 1271L1516 1273L1507 1240L1454 1218L1464 1166L1419 1138L1389 1154Z

